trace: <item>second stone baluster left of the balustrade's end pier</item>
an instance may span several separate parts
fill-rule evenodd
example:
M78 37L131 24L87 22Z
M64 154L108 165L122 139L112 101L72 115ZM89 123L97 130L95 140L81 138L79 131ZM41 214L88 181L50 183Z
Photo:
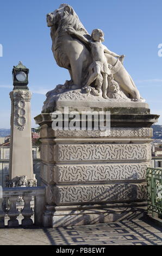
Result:
M10 217L10 220L8 221L9 227L18 227L18 220L17 217L19 215L19 212L16 208L16 202L17 202L17 196L9 197L10 200L10 210L8 212L8 216Z

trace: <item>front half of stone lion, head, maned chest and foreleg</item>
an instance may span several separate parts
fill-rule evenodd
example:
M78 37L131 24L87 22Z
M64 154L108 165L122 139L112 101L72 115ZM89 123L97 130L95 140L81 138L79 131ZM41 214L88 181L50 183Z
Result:
M68 69L73 84L81 88L91 57L83 42L72 38L67 29L72 26L85 36L89 36L88 32L68 4L61 4L59 9L47 14L47 26L51 27L52 52L57 64Z

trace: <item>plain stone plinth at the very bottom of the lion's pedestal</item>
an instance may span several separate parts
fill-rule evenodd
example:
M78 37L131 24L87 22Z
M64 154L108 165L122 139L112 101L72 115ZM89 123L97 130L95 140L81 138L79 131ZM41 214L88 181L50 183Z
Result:
M85 207L86 208L86 207ZM87 225L126 221L140 218L146 214L146 202L136 204L94 205L87 209L73 206L71 209L57 206L52 218L52 227L68 227L73 225Z

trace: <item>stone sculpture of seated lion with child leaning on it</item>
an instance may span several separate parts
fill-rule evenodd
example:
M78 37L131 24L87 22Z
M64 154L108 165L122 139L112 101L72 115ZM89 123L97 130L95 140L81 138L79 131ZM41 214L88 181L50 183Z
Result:
M94 29L90 36L70 5L61 4L47 14L47 26L51 27L54 58L71 76L71 81L58 85L56 93L84 88L86 95L140 100L132 77L122 65L124 55L111 52L102 44L104 33L100 29ZM91 86L92 82L95 87ZM49 93L47 98L49 101Z

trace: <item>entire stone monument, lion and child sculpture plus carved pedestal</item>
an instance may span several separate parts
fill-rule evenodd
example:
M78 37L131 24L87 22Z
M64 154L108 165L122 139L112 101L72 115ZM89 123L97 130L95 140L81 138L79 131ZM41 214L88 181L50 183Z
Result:
M88 224L95 218L96 222L115 221L119 216L133 217L134 212L143 214L146 168L151 164L149 127L158 116L149 113L124 69L124 56L103 46L103 32L90 36L68 4L49 13L47 25L51 27L54 58L70 71L71 81L46 94L43 113L35 118L41 126L45 227ZM52 112L65 113L64 107L79 114L110 111L110 133L99 128L53 131ZM67 121L65 115L63 121Z

